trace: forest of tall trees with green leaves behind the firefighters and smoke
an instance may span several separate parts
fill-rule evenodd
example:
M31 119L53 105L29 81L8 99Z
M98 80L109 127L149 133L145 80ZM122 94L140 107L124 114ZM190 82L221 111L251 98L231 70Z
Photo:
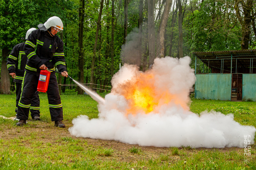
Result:
M52 16L64 24L57 35L69 76L90 88L110 86L124 63L146 71L156 57L190 56L195 68L192 52L256 49L254 0L0 0L1 94L14 90L12 48ZM58 75L58 83L72 81Z

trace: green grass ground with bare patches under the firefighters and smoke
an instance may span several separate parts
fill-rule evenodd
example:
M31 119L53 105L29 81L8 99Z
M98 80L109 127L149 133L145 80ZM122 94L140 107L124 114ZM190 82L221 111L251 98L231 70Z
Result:
M101 94L104 96L105 94ZM108 169L256 169L255 144L251 155L243 148L194 149L191 146L138 147L116 141L72 137L68 128L53 126L47 95L39 94L42 121L16 127L15 121L0 118L0 170L108 170ZM98 117L97 102L88 95L66 91L61 95L64 123L72 126L78 115ZM234 114L243 125L256 127L256 102L192 99L190 110ZM0 115L15 116L15 95L0 95Z

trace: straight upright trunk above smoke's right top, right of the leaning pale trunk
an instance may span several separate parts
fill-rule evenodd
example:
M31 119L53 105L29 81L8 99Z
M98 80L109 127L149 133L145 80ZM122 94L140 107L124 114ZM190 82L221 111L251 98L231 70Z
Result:
M179 30L179 41L178 41L178 58L183 57L183 35L182 35L182 4L181 0L177 0L178 4L178 30Z

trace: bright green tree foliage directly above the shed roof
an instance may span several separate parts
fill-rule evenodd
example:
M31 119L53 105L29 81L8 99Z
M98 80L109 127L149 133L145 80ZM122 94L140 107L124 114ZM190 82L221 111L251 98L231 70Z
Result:
M193 23L192 51L240 50L236 12L233 8L226 11L231 3L230 0L206 0L200 3L200 9L197 6L192 15L185 17Z

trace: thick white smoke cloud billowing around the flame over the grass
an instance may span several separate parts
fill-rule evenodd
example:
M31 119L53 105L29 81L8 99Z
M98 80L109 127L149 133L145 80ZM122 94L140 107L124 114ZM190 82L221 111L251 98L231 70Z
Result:
M118 88L127 82L134 83L142 72L136 66L124 65L112 79L113 91L105 96L105 104L98 105L99 118L90 120L80 115L72 121L74 126L69 132L76 137L141 146L244 147L244 135L251 135L253 144L255 127L242 126L232 114L204 111L199 116L189 111L189 89L195 83L189 63L189 57L155 59L147 74L154 75L154 87L159 94L167 90L173 99L169 103L160 100L148 114L127 112L129 100L118 93Z

